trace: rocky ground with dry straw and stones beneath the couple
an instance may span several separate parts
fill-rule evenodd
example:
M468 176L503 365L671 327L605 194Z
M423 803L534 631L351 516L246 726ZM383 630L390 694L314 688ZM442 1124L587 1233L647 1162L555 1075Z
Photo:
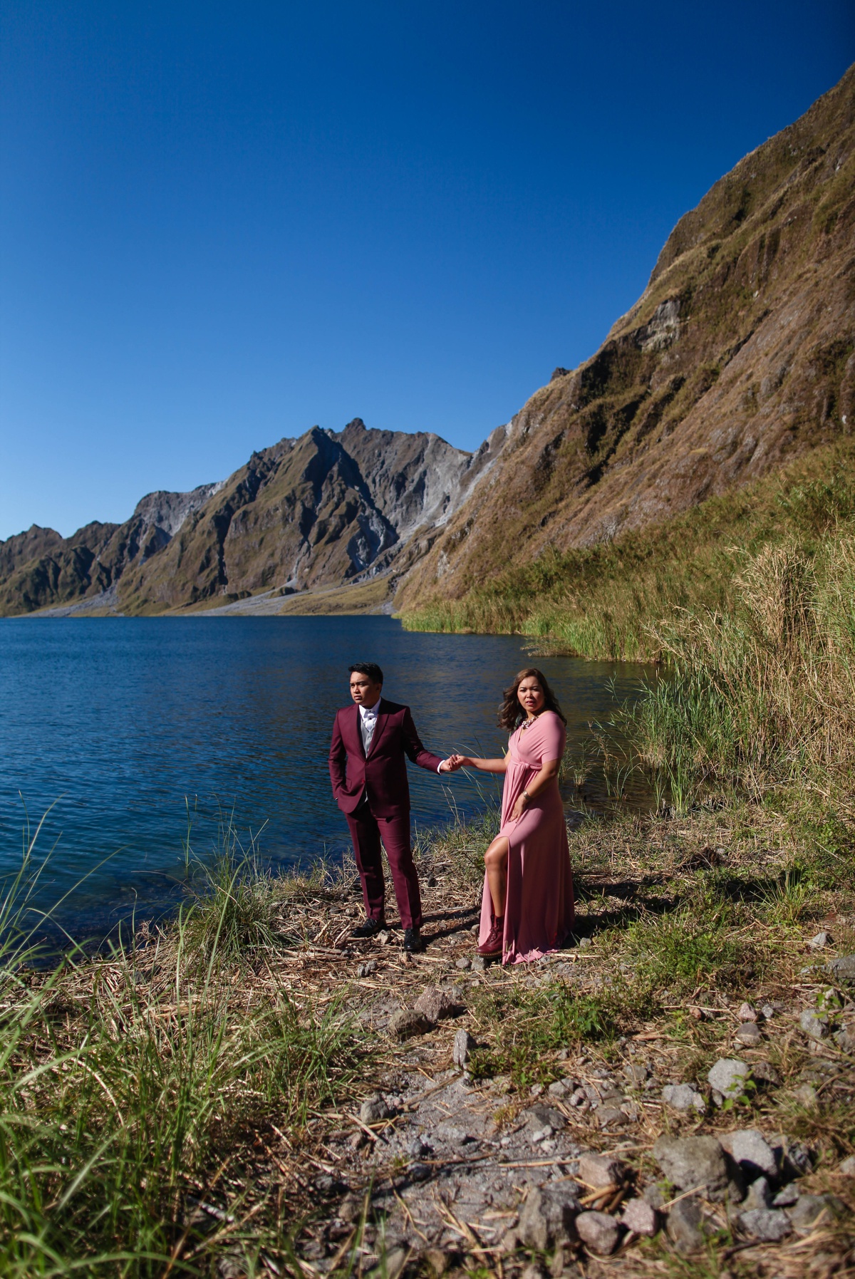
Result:
M350 1106L267 1138L304 1214L291 1269L855 1273L852 903L795 891L751 821L576 831L574 945L512 969L473 958L465 834L423 858L422 955L349 939L353 885L295 907L323 922L271 977L344 998L373 1056ZM741 902L691 972L711 883Z

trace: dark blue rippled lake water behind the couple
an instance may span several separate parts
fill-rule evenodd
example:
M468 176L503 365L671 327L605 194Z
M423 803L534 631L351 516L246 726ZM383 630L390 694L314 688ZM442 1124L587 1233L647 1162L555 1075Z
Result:
M429 749L497 755L501 689L532 659L518 638L413 634L385 616L0 620L0 875L20 865L27 820L33 829L51 804L40 902L69 894L59 917L77 935L180 897L188 811L198 858L212 854L225 815L273 865L340 856L346 826L327 751L357 660L381 664L383 693L412 707ZM537 665L579 751L588 721L645 674L566 657ZM498 794L483 775L409 771L420 828ZM583 794L607 803L597 776ZM565 798L579 802L570 784Z

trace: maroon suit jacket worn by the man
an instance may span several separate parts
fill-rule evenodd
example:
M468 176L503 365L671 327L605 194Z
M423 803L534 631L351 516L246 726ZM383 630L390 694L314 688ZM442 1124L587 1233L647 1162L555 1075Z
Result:
M437 771L442 760L426 751L415 732L409 706L380 698L377 724L368 757L362 746L359 707L336 714L330 746L332 794L343 812L353 812L364 790L376 817L397 817L410 811L406 760Z

